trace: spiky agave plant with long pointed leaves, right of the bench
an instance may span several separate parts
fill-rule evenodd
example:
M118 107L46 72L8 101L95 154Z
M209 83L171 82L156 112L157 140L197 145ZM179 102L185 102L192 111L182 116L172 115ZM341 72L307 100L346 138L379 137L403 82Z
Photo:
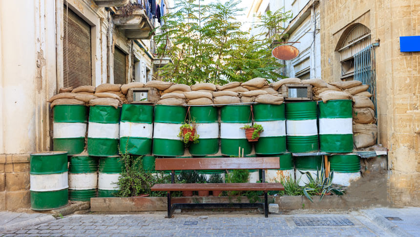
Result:
M334 171L329 172L328 177L326 177L325 175L325 168L324 168L324 160L322 159L322 164L321 164L321 169L319 170L318 168L316 169L316 177L313 178L312 174L310 172L301 172L299 171L302 175L305 174L306 177L308 178L309 182L305 183L305 187L303 188L303 194L308 197L308 199L311 202L314 202L311 198L311 196L309 195L308 192L310 191L316 191L319 190L319 192L321 193L321 198L319 200L322 200L322 197L324 197L324 195L326 193L330 193L333 192L336 195L340 196L343 195L343 192L340 190L340 188L336 188L332 186L332 182L333 182L333 178L334 178ZM315 185L315 188L314 188ZM311 187L308 187L311 186Z

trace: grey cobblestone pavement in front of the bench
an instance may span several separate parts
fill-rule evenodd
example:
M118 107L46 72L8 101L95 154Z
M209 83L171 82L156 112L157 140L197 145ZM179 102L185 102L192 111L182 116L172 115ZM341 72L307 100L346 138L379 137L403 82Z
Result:
M298 226L319 224L341 226ZM345 221L343 221L345 220ZM350 222L349 222L350 221ZM297 224L297 225L296 225ZM26 227L8 236L390 236L367 218L355 214L307 215L71 215L41 225Z

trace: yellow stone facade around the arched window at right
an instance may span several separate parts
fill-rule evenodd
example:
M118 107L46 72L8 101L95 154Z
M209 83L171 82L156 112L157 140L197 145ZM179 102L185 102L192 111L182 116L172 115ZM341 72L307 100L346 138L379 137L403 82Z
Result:
M420 35L418 0L320 0L321 74L339 81L340 37L355 23L375 47L379 143L388 152L388 198L420 206L420 52L400 52L400 36Z

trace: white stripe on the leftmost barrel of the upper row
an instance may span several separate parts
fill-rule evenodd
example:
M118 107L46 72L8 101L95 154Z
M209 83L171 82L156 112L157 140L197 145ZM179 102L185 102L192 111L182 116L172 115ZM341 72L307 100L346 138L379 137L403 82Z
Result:
M84 138L86 123L84 122L54 122L54 138Z

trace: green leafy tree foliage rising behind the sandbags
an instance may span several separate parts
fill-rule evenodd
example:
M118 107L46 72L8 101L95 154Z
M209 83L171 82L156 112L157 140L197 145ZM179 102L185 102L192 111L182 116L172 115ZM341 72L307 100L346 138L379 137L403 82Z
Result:
M243 9L238 4L237 0L208 4L176 0L175 10L162 17L163 33L154 37L158 57L173 61L158 69L158 79L191 85L281 77L275 70L284 65L272 57L271 39L240 29L235 17ZM261 25L267 30L289 18L278 11L262 18Z

